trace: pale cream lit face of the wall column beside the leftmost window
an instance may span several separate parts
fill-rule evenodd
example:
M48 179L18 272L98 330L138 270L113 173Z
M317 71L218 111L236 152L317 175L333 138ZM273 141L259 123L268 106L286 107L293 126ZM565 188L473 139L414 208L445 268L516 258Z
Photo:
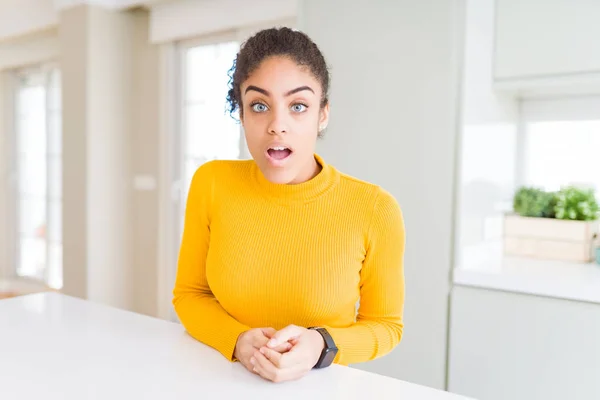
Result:
M133 21L126 13L89 9L88 297L130 308Z

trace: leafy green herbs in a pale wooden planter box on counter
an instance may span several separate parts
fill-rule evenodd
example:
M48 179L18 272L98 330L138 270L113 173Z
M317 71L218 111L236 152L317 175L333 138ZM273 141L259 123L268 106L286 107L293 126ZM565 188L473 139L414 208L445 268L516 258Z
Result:
M504 219L507 255L590 262L599 231L593 190L574 186L558 192L522 187L513 198L514 213Z

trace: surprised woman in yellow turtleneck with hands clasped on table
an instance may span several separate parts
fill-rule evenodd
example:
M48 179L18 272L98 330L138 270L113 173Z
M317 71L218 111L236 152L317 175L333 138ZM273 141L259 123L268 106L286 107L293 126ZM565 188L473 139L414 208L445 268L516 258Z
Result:
M267 29L232 70L253 159L192 179L173 292L183 326L272 381L387 354L403 329L404 222L388 192L315 153L323 55L301 32Z

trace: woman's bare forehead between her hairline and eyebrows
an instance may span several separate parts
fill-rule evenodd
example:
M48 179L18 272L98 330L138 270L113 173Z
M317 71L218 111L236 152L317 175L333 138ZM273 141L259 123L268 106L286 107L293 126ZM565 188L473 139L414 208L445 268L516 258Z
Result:
M288 57L269 57L262 61L242 84L242 93L249 85L258 86L275 94L300 86L310 86L317 95L321 92L321 85L308 67L298 65Z

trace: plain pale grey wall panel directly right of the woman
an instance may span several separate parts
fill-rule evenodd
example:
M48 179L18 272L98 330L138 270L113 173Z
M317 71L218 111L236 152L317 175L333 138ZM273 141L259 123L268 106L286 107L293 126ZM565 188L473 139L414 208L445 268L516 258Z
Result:
M357 366L444 388L464 2L305 0L299 28L332 71L331 123L318 151L382 185L405 216L400 346Z

